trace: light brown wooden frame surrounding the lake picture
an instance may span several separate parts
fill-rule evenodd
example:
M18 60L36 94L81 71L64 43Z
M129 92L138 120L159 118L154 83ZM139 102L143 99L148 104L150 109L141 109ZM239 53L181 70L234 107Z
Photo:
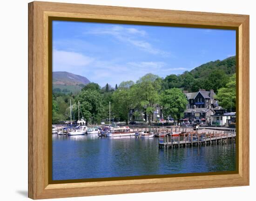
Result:
M50 18L123 24L236 30L237 172L162 178L50 183ZM49 42L49 43L48 43ZM31 2L28 4L28 197L32 199L110 195L249 185L249 16L146 8Z

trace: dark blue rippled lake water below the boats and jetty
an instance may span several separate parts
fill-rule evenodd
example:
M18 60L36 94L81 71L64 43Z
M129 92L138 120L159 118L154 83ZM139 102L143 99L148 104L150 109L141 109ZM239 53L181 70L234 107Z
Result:
M236 170L236 144L159 149L158 138L53 135L53 180Z

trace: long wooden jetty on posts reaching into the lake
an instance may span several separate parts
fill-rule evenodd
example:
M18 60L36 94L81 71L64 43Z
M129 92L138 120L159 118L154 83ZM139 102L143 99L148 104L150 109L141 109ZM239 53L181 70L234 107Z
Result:
M180 148L187 146L206 146L211 144L236 142L236 131L227 130L223 132L199 133L182 132L178 135L166 135L159 138L159 148Z

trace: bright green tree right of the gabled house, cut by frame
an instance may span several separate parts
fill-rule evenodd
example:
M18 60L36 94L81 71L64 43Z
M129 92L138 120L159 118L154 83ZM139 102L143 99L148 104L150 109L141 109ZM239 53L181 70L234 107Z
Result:
M218 90L216 99L223 108L236 111L236 74L233 74L225 87Z

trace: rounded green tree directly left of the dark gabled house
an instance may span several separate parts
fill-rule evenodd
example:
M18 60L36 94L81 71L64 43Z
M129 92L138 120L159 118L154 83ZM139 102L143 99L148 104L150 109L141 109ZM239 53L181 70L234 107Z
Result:
M186 110L188 100L180 89L173 88L162 92L160 104L165 118L170 115L174 119L179 119Z

